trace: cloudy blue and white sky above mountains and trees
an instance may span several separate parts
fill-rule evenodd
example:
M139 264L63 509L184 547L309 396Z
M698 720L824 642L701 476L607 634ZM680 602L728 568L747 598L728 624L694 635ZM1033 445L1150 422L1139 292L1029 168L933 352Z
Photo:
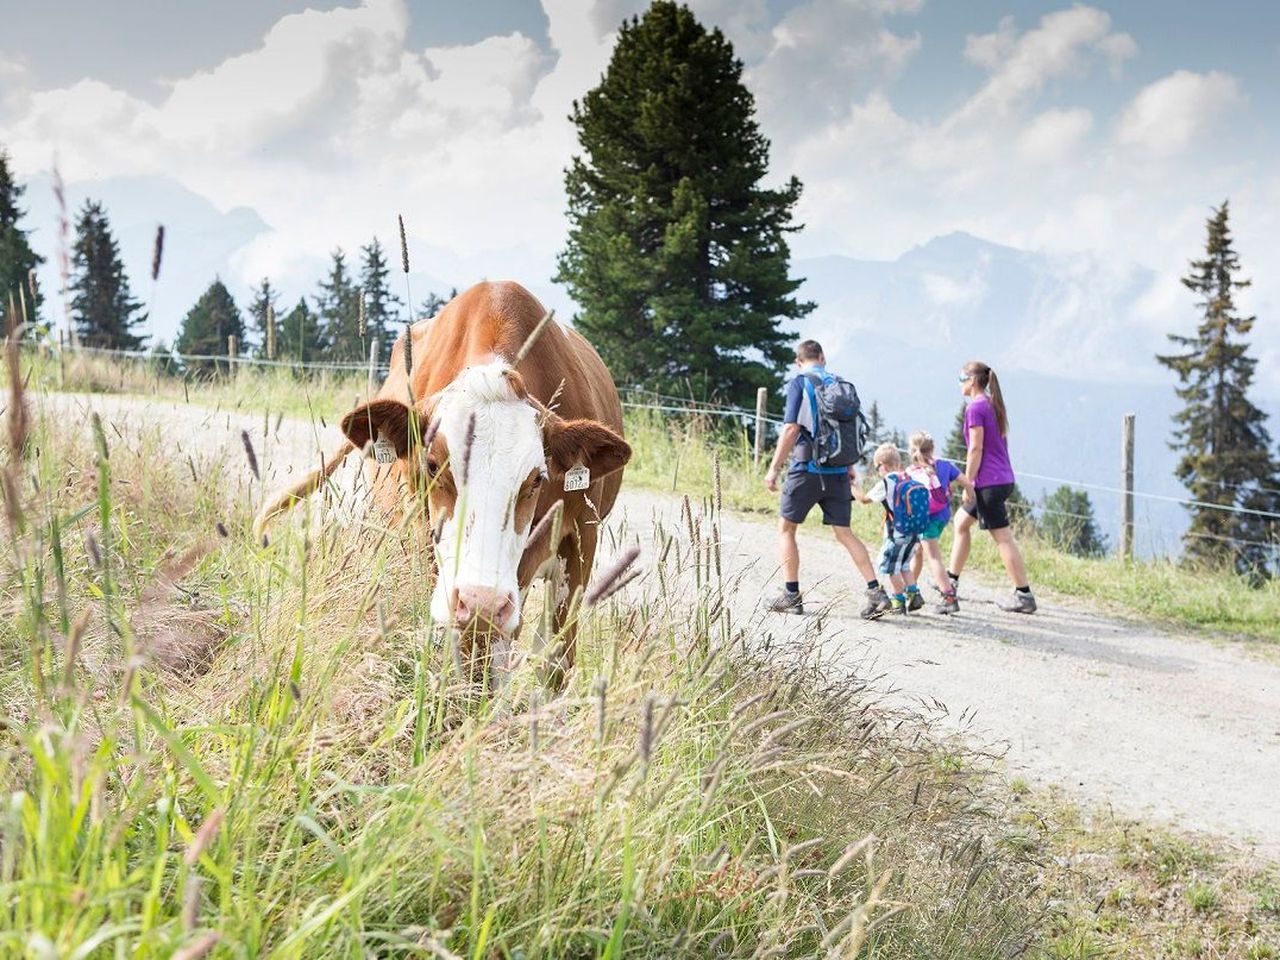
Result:
M1130 334L1146 343L1190 323L1178 275L1202 246L1210 205L1230 197L1256 280L1244 305L1261 317L1261 388L1280 396L1280 4L690 6L746 64L773 174L805 184L797 257L893 260L963 230L1068 264L1082 288L1139 278L1123 307L1085 298L1044 320L1105 334L1091 340L1102 352L1070 358L1088 367L1112 347L1123 353ZM548 279L566 232L567 113L598 82L620 20L640 9L12 4L0 145L32 187L33 216L49 215L55 159L73 197L127 196L138 209L113 218L166 221L179 250L183 214L160 198L207 202L234 227L216 260L242 297L262 275L291 300L310 293L329 250L392 241L403 214L415 298L429 283L513 276L570 308ZM50 250L52 224L33 225ZM134 256L141 276L146 252ZM940 297L964 296L948 283ZM170 306L177 316L186 303Z

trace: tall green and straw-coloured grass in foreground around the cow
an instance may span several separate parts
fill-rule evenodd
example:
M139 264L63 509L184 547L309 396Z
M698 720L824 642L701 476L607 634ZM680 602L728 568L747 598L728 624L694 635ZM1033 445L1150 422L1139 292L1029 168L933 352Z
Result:
M1036 893L982 758L762 646L724 602L714 506L613 529L605 557L643 541L648 572L585 611L566 691L525 668L493 694L433 628L416 527L262 549L256 497L219 494L238 460L189 483L145 425L36 412L3 463L0 954L1025 943Z

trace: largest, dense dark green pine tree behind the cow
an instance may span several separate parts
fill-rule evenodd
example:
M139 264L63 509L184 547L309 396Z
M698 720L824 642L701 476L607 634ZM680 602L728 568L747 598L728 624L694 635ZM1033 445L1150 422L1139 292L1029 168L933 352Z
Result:
M769 142L742 63L689 8L622 24L600 84L573 104L570 239L556 279L620 384L744 406L791 360L787 234L800 182L760 186Z

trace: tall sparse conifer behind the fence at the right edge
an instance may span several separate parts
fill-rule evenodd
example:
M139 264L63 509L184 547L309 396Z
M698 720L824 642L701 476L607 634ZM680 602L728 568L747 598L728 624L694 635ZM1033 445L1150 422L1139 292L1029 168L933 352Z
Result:
M1229 209L1224 201L1207 220L1204 257L1193 260L1183 285L1198 297L1201 320L1190 337L1169 334L1178 352L1157 360L1178 374L1183 410L1170 447L1181 452L1175 470L1190 498L1221 507L1275 512L1280 486L1271 453L1266 415L1249 399L1257 360L1247 337L1256 317L1235 311L1235 292L1249 285L1238 280L1239 257L1231 243ZM1233 566L1261 576L1275 563L1274 545L1249 544L1268 539L1268 521L1230 509L1190 507L1185 557L1211 566Z

